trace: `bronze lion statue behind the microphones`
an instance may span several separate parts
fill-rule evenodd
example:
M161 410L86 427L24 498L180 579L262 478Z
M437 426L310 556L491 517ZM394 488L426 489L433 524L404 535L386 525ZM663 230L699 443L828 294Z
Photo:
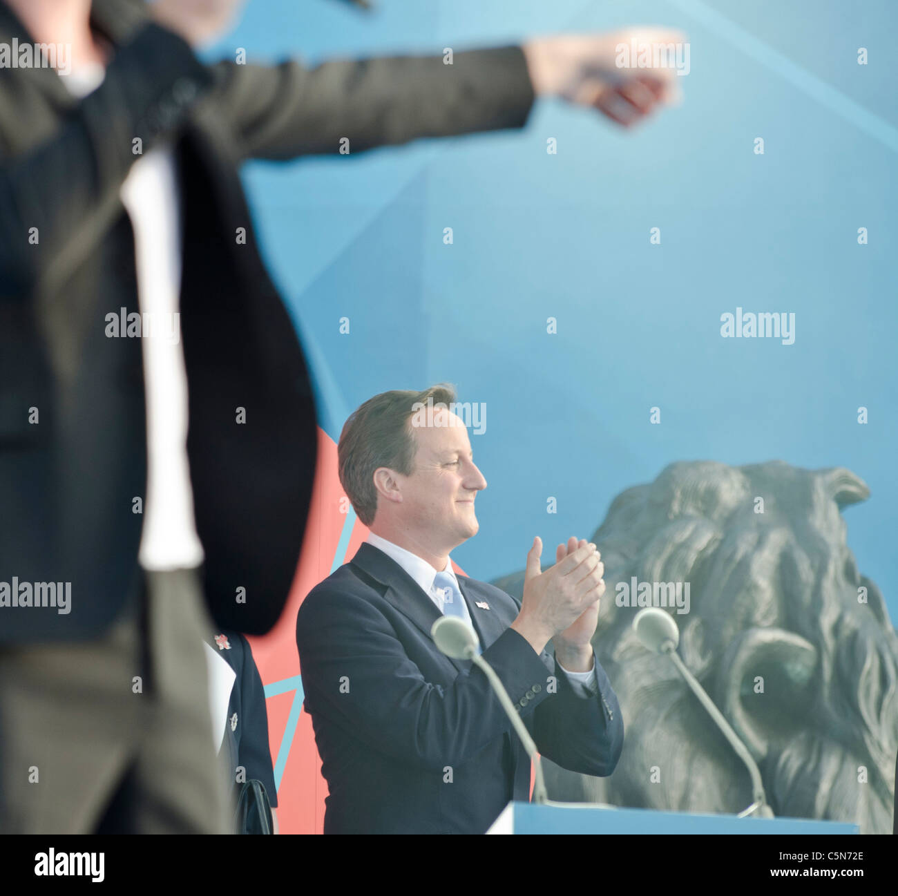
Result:
M850 470L674 463L612 502L593 535L607 590L596 655L626 738L610 777L545 762L551 799L696 813L752 802L748 772L664 656L641 646L630 584L688 584L667 611L680 655L761 769L779 816L889 833L898 750L898 637L858 572L841 510ZM496 582L520 597L523 571ZM670 606L670 603L668 603Z

